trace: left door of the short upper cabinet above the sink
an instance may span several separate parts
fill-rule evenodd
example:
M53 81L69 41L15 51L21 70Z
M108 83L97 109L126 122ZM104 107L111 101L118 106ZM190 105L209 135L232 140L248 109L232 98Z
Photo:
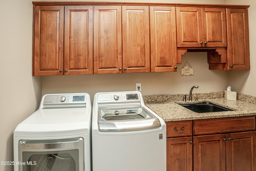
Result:
M176 7L177 47L202 47L202 11L199 7Z

